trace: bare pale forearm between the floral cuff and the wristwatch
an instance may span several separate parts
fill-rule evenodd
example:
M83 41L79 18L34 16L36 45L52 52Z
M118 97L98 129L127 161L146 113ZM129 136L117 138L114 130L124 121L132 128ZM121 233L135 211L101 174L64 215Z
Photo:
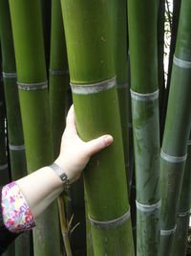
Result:
M16 183L26 198L34 218L41 214L64 189L61 179L50 167L43 167L17 180Z

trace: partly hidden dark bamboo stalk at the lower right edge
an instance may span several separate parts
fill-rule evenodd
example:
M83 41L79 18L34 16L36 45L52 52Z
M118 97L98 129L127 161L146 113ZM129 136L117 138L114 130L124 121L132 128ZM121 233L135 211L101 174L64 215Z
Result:
M188 142L187 147L187 159L181 188L177 228L173 239L172 256L185 256L187 248L191 201L191 141Z

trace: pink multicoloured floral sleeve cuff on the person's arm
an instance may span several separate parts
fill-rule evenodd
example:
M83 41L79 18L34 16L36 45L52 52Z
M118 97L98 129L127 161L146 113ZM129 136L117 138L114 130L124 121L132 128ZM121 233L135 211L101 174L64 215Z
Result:
M3 221L11 232L29 230L35 226L29 205L15 181L2 188L1 196Z

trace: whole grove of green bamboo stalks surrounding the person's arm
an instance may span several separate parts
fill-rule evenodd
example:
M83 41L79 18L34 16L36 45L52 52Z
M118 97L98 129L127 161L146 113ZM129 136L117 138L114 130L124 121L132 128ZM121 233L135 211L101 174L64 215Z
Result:
M69 107L112 134L4 256L185 256L191 202L191 3L0 0L0 182L53 163ZM168 5L167 5L168 6Z

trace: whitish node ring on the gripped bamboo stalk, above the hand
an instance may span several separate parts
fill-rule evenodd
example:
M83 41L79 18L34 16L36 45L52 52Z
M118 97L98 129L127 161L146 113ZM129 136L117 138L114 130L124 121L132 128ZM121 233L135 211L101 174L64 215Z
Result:
M74 94L88 95L109 90L115 87L116 84L116 77L114 77L110 80L90 84L76 84L71 82L71 88Z

